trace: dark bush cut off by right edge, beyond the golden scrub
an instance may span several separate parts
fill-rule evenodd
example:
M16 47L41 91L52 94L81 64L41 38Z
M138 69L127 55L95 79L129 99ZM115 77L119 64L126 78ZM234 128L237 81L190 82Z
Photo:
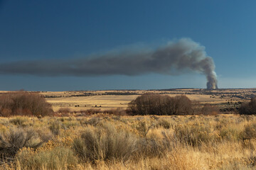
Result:
M240 115L255 115L256 114L256 98L251 98L250 102L242 103L239 108Z

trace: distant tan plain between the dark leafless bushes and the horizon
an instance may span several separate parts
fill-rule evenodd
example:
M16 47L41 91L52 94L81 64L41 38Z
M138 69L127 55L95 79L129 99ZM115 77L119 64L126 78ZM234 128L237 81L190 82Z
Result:
M166 89L166 90L110 90L110 91L42 91L46 100L53 105L53 110L70 108L71 111L100 108L127 108L128 103L137 96L154 93L169 96L186 95L191 101L210 103L220 108L236 107L242 101L256 96L256 89Z

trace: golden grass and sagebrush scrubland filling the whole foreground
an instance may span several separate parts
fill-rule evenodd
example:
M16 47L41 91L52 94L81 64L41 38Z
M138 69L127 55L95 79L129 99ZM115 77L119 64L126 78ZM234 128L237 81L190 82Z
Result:
M0 118L1 169L256 169L255 115Z

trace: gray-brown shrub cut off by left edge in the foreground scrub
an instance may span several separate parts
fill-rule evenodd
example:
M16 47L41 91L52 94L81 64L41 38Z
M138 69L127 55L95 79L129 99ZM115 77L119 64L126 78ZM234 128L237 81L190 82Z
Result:
M4 159L13 158L19 149L23 147L36 149L41 144L41 139L33 130L12 129L0 135L0 154Z

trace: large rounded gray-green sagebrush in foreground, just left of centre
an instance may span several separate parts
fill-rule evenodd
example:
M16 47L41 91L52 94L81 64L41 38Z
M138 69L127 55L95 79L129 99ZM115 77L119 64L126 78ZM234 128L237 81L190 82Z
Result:
M84 162L97 160L128 160L136 151L136 138L111 125L105 128L87 128L73 142L75 154Z

